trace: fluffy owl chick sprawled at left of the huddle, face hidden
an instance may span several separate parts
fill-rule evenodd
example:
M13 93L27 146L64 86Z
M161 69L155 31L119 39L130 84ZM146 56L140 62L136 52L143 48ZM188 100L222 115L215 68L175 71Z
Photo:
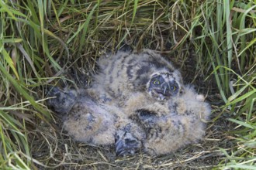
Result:
M116 143L116 155L133 155L142 148L139 139L144 138L144 131L127 117L123 108L99 103L83 89L61 90L51 87L47 97L50 97L47 100L48 107L60 114L64 130L75 141L91 145ZM121 145L116 138L123 138L126 146ZM121 150L123 152L119 152Z

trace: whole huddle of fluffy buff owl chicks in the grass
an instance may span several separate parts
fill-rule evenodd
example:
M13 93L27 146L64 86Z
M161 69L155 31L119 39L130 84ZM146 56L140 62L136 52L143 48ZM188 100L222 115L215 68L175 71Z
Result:
M54 87L48 105L76 141L116 146L116 155L162 155L198 141L210 114L204 97L182 83L162 56L119 52L99 61L88 89Z

